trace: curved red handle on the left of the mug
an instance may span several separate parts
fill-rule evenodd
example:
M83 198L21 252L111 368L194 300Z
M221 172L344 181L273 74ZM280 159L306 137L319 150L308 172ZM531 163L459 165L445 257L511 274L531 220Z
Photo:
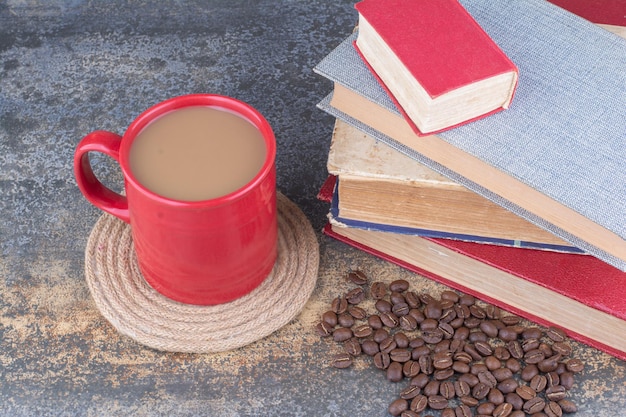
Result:
M85 136L74 152L74 176L78 188L85 198L99 209L130 223L128 200L105 187L93 173L89 162L89 152L101 152L120 163L120 144L122 137L112 132L97 130Z

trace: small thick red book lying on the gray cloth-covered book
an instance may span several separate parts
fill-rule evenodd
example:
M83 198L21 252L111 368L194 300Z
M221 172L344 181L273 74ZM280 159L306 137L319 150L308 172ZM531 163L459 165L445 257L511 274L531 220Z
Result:
M363 0L356 47L419 135L508 108L517 67L457 0Z

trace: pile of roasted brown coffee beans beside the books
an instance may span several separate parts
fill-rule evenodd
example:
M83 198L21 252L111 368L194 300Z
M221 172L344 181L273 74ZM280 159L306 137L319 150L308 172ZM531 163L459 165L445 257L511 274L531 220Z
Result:
M370 279L360 270L346 280L357 287L332 300L316 331L343 346L333 367L370 357L389 381L409 381L390 403L391 415L419 417L430 408L441 417L561 417L577 410L567 394L584 364L570 358L561 329L524 327L518 316L451 290L418 294L399 279L372 280L366 291Z

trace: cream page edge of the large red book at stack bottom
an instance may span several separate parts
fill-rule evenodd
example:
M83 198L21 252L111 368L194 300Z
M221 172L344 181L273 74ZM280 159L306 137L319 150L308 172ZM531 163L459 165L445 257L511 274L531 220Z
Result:
M333 231L542 320L626 351L626 322L427 239L351 227ZM507 293L503 298L502 288Z

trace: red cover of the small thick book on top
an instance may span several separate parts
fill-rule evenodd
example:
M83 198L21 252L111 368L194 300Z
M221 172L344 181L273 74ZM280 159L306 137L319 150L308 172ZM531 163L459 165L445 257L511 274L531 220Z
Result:
M517 73L515 64L457 0L363 0L355 7L432 99L495 75ZM380 68L373 68L359 52L406 117L406 109L386 85ZM516 80L503 107L455 126L508 107ZM422 132L408 120L419 135L453 127Z

